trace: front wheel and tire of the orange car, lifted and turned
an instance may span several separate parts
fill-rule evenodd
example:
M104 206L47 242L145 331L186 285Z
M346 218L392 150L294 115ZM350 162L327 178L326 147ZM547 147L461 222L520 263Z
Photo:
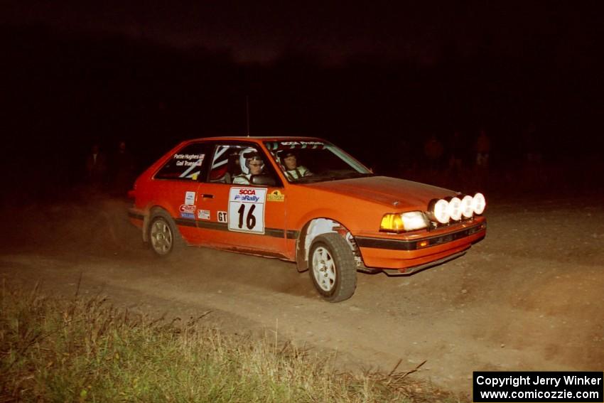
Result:
M323 299L340 302L357 288L357 264L346 240L336 233L319 235L308 254L313 285Z

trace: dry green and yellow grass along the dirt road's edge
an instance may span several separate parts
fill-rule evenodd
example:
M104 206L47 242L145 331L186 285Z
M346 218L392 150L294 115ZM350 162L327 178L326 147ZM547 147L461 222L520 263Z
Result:
M0 402L455 401L407 373L337 372L276 336L227 335L3 284Z

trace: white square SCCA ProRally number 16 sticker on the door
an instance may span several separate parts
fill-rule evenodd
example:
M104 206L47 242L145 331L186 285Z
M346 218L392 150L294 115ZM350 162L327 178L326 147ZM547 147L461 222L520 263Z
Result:
M264 234L266 189L231 188L229 192L229 230Z

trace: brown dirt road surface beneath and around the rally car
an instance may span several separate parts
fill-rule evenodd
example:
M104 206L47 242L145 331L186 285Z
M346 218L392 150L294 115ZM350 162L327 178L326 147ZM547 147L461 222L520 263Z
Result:
M262 331L343 370L411 370L466 396L475 370L604 369L604 210L571 199L490 203L484 241L409 277L358 274L326 303L308 273L276 259L185 248L158 259L122 200L4 210L0 276L45 292L102 294L166 318Z

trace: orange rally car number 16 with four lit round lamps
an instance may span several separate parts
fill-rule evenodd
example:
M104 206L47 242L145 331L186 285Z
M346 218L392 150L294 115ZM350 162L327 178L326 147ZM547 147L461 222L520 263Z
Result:
M375 176L309 137L183 141L129 195L158 256L188 244L296 262L332 302L354 294L357 272L411 274L486 234L481 193Z

